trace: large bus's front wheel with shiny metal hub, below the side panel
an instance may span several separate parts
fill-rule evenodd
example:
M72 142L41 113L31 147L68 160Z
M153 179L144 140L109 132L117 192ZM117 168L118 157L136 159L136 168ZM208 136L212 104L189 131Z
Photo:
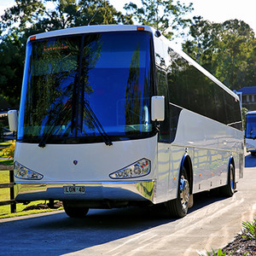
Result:
M189 208L189 180L185 167L180 172L177 191L177 198L167 201L166 208L172 217L183 218Z

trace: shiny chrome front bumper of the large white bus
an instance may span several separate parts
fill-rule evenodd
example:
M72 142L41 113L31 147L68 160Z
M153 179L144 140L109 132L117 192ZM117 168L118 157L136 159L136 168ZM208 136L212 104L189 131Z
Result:
M15 183L16 201L151 201L155 203L155 180L138 182L75 183L84 195L66 195L63 186L74 183Z

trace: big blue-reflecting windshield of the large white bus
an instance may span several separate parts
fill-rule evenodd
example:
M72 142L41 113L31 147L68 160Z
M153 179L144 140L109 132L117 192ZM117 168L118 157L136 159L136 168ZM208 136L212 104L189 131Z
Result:
M148 32L105 32L29 42L18 140L90 143L104 141L102 133L112 140L149 136L151 40Z

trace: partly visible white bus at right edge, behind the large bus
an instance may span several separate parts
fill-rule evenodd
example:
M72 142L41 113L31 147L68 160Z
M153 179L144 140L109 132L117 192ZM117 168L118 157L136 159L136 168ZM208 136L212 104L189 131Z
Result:
M246 148L253 156L256 155L256 111L247 112Z

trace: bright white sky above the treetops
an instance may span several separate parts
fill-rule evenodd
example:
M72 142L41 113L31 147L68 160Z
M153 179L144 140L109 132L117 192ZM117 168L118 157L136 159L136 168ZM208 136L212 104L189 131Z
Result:
M141 0L108 0L115 9L125 13L125 3L141 3ZM201 15L204 20L223 22L237 19L245 21L256 34L256 0L180 0L181 3L193 3L191 17ZM15 0L0 0L0 15L4 9L13 6Z

